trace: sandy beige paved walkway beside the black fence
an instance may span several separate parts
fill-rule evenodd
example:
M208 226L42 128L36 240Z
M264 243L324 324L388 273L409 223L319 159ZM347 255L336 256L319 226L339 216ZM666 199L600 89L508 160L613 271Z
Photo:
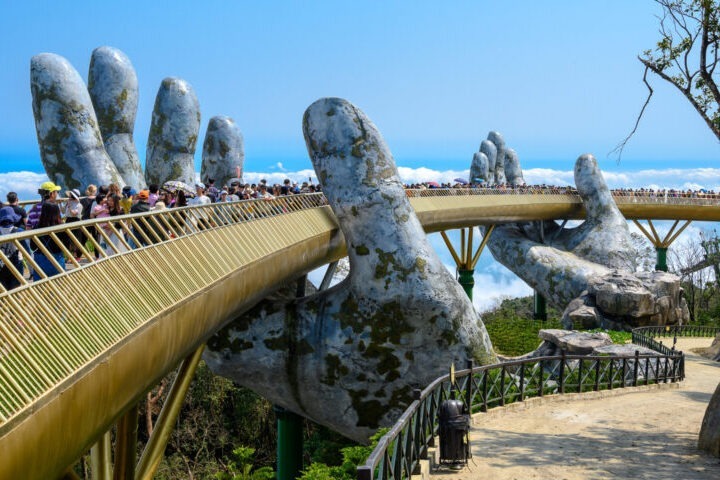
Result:
M473 458L468 467L441 467L431 477L718 480L720 459L700 453L696 444L705 409L720 382L720 363L691 352L711 342L678 340L677 348L687 354L687 378L679 388L491 411L478 418L471 431Z

